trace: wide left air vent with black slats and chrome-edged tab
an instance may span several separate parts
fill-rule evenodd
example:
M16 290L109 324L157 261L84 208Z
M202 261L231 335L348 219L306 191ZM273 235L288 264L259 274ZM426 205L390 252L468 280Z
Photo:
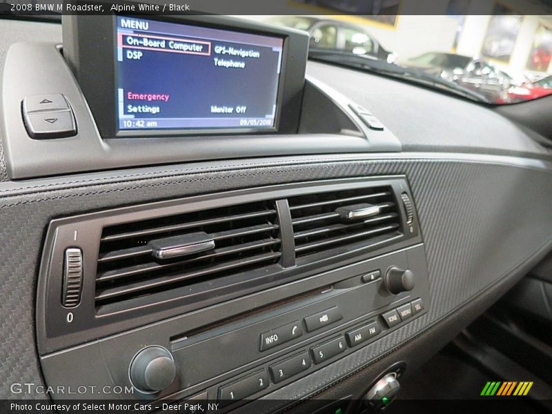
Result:
M278 262L280 250L274 201L106 227L95 303L112 304L263 268Z

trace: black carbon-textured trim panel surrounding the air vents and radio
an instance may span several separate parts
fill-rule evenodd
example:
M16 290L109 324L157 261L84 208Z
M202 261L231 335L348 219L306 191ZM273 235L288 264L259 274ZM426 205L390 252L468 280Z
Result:
M366 364L453 312L484 288L531 257L552 235L550 170L509 166L479 157L445 159L317 160L304 157L288 166L205 169L209 164L175 166L170 176L146 175L133 181L96 182L73 188L57 185L14 195L0 185L0 398L12 395L12 382L41 383L34 348L34 288L41 243L48 221L102 208L184 197L230 188L337 177L406 174L420 219L430 273L427 315L359 349L309 378L271 397L306 395L339 375ZM339 159L339 158L337 158ZM315 161L316 160L316 161ZM183 173L179 172L186 171ZM203 169L202 169L203 168ZM238 169L239 168L239 169ZM150 169L151 170L151 169ZM32 184L32 183L30 183ZM30 185L32 187L32 185ZM61 184L63 187L63 184ZM2 190L8 190L2 193ZM317 374L318 375L318 374Z

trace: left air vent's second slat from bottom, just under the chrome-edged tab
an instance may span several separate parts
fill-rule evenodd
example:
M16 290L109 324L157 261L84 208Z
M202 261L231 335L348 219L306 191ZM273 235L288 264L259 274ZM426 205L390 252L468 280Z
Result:
M235 246L228 246L224 248L218 248L212 250L212 253L206 255L200 255L193 257L192 259L180 260L178 262L170 262L168 264L159 264L157 262L149 262L146 264L138 264L135 266L128 266L124 268L117 268L116 270L108 270L103 273L98 273L96 277L96 282L106 282L108 280L121 279L122 277L129 277L139 275L141 273L152 272L156 270L161 270L164 268L170 268L175 266L185 266L186 264L193 264L201 260L213 259L214 257L220 257L224 255L230 255L234 253L242 253L247 250L253 250L256 248L262 248L266 246L273 246L279 244L279 239L266 239L259 240L250 243L237 244Z

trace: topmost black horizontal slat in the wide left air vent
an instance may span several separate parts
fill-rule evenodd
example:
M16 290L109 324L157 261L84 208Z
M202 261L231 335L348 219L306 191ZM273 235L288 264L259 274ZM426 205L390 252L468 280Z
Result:
M144 237L148 235L155 235L157 233L168 233L172 231L177 230L188 230L189 228L195 228L195 227L201 227L201 226L210 226L213 224L221 224L226 223L228 221L237 221L237 220L244 220L244 219L254 219L257 217L266 217L269 215L273 215L276 213L276 210L262 210L257 211L253 213L244 213L244 214L237 214L237 215L228 215L224 217L215 217L213 219L205 219L205 220L197 220L197 221L191 221L188 223L181 223L181 224L172 224L170 226L162 226L162 227L156 227L156 228L144 228L141 230L135 230L135 231L129 231L126 233L118 233L114 235L105 235L102 236L100 239L100 242L116 242L117 240L121 239L130 239L134 237Z

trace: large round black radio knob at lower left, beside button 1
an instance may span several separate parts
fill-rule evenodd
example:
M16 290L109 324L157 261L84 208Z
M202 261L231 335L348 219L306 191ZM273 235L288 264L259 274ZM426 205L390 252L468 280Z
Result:
M177 368L170 352L162 346L148 346L130 363L130 381L144 393L164 390L175 380Z

